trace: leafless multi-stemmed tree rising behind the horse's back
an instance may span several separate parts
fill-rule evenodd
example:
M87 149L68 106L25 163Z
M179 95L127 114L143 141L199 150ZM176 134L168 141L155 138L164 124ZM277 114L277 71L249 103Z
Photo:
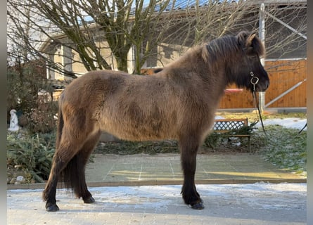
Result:
M63 42L62 44L79 54L79 58L87 70L112 69L108 60L103 58L101 48L95 41L97 36L103 35L117 62L117 69L127 71L129 49L134 46L136 56L140 58L141 47L139 46L141 44L139 42L155 36L151 25L157 23L169 2L170 0L155 0L149 1L148 5L144 6L143 1L133 0L56 0L49 2L28 0L25 3L10 0L8 1L10 8L8 15L11 20L15 21L15 26L20 26L16 15L23 15L34 25L34 30L38 30L46 34L49 39L58 42L59 40L50 33L51 27L49 30L45 30L42 24L37 23L38 18L46 20L47 23L53 25L54 30L62 32L67 37L68 43ZM26 7L30 8L32 16L30 13L25 13ZM155 12L157 7L158 11ZM11 11L15 11L15 15ZM34 42L36 41L42 42L43 40L34 40ZM25 44L32 48L30 43ZM143 52L150 51L152 44L155 42L146 41L146 49ZM138 67L142 61L138 60Z

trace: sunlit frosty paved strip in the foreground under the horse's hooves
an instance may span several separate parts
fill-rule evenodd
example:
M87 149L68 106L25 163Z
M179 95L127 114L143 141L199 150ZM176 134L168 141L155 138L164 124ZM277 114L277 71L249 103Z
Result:
M306 184L198 185L205 209L184 205L181 186L90 188L95 204L58 189L60 211L46 212L41 191L8 190L7 222L23 224L306 224Z

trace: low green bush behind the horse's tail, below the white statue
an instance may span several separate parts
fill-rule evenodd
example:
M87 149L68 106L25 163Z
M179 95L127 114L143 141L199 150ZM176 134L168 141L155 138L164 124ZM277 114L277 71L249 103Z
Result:
M8 168L20 167L32 180L48 179L55 150L56 133L16 134L8 133L6 139L6 163Z

